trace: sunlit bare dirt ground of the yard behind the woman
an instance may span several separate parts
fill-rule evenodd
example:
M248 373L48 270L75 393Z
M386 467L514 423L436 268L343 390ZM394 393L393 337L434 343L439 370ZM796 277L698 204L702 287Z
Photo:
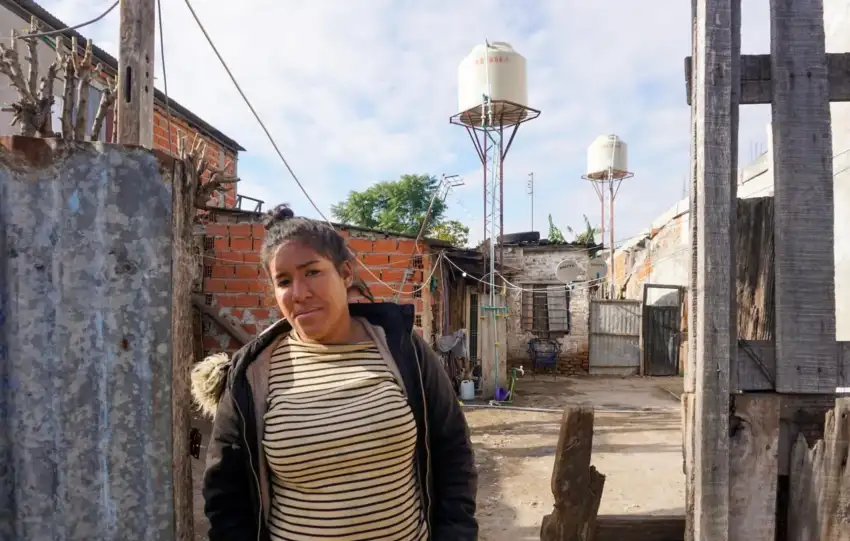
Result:
M560 410L596 408L593 464L606 475L600 514L684 512L681 378L526 377L514 406ZM550 512L550 478L560 413L466 410L479 469L481 541L539 539ZM204 440L195 460L195 537L206 539L200 494L209 423L195 420Z

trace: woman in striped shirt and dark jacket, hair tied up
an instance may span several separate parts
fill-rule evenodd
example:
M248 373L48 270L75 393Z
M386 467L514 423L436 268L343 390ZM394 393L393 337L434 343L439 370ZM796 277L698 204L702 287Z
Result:
M210 540L477 539L469 429L413 307L349 304L344 239L285 205L261 259L283 319L192 373Z

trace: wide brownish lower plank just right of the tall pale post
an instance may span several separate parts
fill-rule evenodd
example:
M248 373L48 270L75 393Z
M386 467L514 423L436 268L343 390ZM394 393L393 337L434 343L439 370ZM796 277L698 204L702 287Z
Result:
M774 541L779 397L733 397L729 444L729 539Z

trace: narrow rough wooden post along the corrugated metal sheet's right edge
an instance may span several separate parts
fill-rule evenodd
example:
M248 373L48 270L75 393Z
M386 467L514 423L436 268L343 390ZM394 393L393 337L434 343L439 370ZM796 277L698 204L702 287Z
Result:
M193 172L182 161L160 154L160 167L172 187L172 464L174 479L174 539L194 541L190 372L195 360L192 282L195 275L192 221L195 215Z

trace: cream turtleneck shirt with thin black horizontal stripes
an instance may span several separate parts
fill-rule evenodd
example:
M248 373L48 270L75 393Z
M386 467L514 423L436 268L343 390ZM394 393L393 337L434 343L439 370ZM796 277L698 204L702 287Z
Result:
M375 344L289 336L270 371L272 540L427 540L416 422Z

